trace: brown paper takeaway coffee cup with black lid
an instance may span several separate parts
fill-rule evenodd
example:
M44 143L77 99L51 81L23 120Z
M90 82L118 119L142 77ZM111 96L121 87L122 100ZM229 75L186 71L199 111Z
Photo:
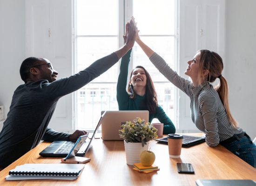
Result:
M181 134L168 134L167 138L170 158L180 158L183 136Z

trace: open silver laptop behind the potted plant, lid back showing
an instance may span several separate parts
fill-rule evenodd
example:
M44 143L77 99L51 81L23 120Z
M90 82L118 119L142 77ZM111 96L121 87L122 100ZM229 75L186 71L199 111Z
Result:
M119 136L121 125L126 121L133 121L137 117L145 122L149 120L148 111L105 111L101 120L101 138L102 140L123 140Z

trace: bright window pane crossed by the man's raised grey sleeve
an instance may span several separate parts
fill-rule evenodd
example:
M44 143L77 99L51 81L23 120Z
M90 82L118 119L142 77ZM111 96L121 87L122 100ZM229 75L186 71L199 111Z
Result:
M117 49L117 37L78 37L77 69L81 71ZM92 82L117 82L118 63Z

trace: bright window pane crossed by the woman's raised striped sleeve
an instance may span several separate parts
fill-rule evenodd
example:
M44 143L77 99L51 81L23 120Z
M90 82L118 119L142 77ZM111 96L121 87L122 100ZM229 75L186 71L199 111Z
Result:
M142 37L141 40L152 50L158 53L168 65L175 69L175 39L174 37ZM133 47L133 68L135 66L143 66L150 74L152 80L168 81L150 62L148 56L142 51L141 47L135 43Z

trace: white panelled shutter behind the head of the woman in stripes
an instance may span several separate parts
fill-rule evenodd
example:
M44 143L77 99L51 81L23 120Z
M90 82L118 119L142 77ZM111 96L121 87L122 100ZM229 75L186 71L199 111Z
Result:
M180 0L179 74L184 74L187 61L196 51L208 49L225 54L225 0ZM179 129L194 133L197 129L190 116L190 99L179 90ZM179 131L177 131L179 133ZM197 132L199 130L197 129Z

